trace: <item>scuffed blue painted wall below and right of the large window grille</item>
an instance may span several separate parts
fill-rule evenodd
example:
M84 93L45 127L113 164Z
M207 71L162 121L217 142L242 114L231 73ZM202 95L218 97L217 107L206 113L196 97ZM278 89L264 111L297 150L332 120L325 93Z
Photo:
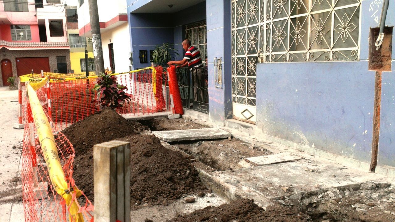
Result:
M382 7L374 5L374 14L371 4L361 5L360 61L257 65L256 125L263 133L370 162L375 73L368 71L369 30L378 26L374 18ZM391 11L394 4L389 26L395 23ZM378 164L395 167L393 74L383 73Z

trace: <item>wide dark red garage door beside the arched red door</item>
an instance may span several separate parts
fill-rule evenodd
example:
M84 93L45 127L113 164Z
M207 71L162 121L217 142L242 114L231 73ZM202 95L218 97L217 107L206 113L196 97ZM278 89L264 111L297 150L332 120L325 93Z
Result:
M50 72L48 57L30 57L30 58L15 58L17 63L18 76L26 75L32 72L39 74L40 71Z

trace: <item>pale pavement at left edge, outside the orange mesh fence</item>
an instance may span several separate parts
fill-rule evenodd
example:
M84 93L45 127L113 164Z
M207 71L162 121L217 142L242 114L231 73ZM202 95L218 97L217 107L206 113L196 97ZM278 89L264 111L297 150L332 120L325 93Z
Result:
M18 121L18 91L0 89L0 218L5 222L24 221L21 188L23 129Z

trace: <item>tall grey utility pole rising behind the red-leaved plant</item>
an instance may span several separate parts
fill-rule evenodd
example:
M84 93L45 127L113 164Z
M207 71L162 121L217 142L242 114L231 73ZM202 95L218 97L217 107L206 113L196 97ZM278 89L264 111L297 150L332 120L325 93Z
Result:
M97 0L88 0L90 14L90 28L92 30L93 55L95 58L96 75L104 73L102 37L100 35L100 23Z

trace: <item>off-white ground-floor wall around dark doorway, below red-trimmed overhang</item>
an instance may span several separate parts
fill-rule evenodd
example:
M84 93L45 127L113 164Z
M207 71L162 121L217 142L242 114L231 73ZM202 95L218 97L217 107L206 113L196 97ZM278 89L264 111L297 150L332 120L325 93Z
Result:
M114 46L115 71L117 73L129 71L130 37L128 22L124 22L124 24L113 28L108 32L102 33L103 59L105 69L110 67L110 58L108 52L108 44L110 43L113 43Z

